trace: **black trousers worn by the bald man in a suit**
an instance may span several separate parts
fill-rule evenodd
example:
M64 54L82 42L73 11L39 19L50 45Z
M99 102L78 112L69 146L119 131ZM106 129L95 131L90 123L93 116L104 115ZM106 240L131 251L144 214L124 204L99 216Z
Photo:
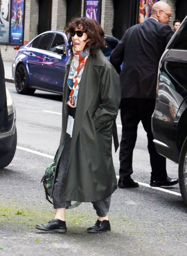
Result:
M155 100L140 98L122 98L121 120L122 140L120 142L120 178L128 179L133 173L132 155L137 140L137 129L140 121L147 132L148 152L150 154L151 179L164 180L167 177L166 158L160 156L153 142L151 116L154 112Z

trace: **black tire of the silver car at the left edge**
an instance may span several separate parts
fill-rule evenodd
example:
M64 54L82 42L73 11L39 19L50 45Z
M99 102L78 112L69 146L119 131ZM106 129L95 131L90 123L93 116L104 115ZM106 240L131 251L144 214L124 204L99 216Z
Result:
M16 145L17 145L17 130L15 129L12 147L10 150L6 152L0 152L0 169L7 167L12 162L12 159L16 152Z

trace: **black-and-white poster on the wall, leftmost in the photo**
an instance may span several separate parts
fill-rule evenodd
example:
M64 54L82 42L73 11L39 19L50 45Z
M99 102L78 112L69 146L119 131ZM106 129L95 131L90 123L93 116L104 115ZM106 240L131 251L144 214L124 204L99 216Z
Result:
M0 42L9 42L10 0L0 0Z

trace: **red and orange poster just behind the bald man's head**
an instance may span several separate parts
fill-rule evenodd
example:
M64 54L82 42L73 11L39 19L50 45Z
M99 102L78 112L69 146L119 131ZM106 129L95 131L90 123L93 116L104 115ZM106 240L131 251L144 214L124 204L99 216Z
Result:
M158 0L140 0L138 23L142 23L150 18L151 8L156 2L158 2Z

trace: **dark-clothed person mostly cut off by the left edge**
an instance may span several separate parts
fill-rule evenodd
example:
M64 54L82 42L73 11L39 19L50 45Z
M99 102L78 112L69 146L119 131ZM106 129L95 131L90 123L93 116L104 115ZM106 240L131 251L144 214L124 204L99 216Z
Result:
M4 65L0 52L0 132L3 132L5 130L8 130L8 112L4 80Z

